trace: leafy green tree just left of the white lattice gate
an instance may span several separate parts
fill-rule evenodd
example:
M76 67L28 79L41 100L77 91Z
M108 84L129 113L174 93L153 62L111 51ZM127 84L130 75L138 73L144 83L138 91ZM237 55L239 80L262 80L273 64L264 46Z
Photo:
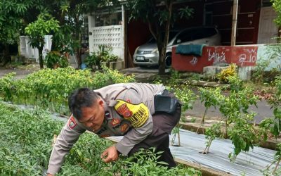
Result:
M60 22L60 31L56 32L53 41L63 52L75 51L78 67L81 65L81 32L84 25L84 14L98 12L98 8L107 7L110 10L119 4L118 0L65 0L51 9L57 9L52 15Z

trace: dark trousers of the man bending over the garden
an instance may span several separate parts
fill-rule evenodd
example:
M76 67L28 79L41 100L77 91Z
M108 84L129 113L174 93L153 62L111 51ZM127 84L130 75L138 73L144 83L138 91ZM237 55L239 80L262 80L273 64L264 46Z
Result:
M169 168L175 167L176 163L171 151L169 149L169 134L176 126L181 118L181 105L178 104L176 112L174 114L169 113L155 113L152 115L153 130L152 133L131 149L129 156L139 151L139 149L149 149L155 147L156 152L163 151L162 156L158 161L164 161L169 164Z

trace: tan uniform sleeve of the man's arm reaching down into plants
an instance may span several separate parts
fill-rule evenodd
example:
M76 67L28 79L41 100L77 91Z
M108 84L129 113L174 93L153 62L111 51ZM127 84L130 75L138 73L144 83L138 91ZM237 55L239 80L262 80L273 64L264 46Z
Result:
M55 145L53 146L53 151L48 163L47 172L49 174L55 175L55 173L60 170L65 155L70 151L73 144L77 142L79 136L85 131L86 130L84 130L80 125L77 125L77 122L73 117L67 121L58 135Z

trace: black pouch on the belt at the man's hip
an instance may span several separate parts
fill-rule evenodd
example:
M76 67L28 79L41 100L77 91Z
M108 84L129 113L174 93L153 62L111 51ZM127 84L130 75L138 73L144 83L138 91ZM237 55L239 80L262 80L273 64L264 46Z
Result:
M157 94L154 96L155 112L174 113L178 106L178 99L168 94Z

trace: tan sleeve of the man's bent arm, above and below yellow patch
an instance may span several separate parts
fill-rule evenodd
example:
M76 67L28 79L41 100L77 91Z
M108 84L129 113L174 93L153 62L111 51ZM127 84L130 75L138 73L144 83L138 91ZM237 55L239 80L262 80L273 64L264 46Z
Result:
M140 95L133 89L126 91L123 98L124 101L130 101L130 103L142 103ZM119 97L117 99L119 99ZM133 146L142 142L146 137L148 137L148 135L152 132L152 128L152 115L149 112L148 120L146 120L141 127L129 130L129 132L124 135L123 139L115 144L116 149L123 155L127 156L131 149L133 149Z

